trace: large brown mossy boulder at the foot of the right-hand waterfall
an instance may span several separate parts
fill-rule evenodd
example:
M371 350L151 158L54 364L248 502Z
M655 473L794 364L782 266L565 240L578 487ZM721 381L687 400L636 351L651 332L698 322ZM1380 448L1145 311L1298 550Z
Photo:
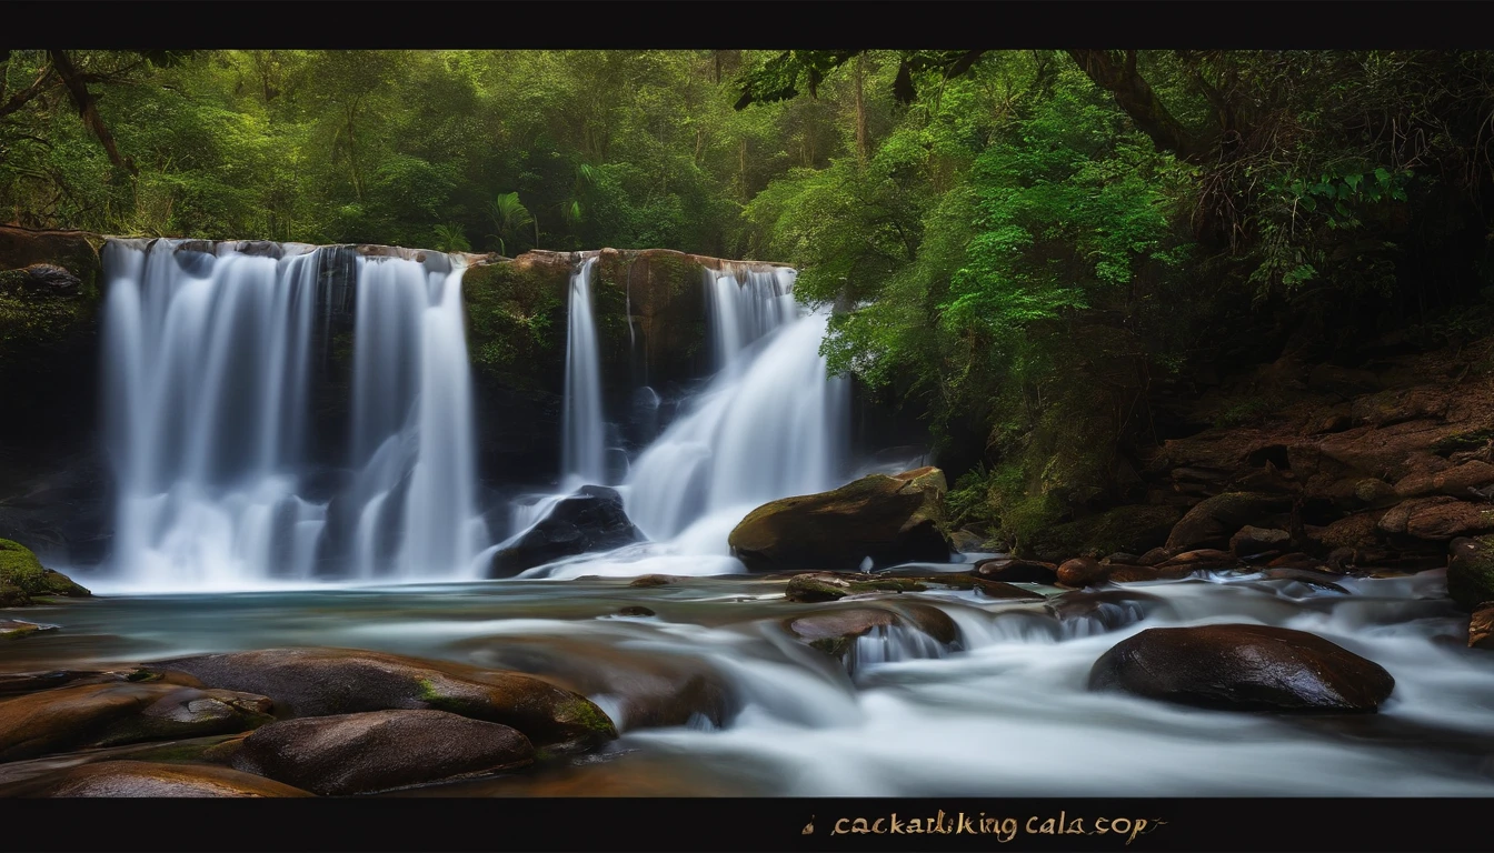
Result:
M919 468L872 474L819 494L765 503L731 532L748 571L855 571L907 562L949 562L943 532L944 474Z

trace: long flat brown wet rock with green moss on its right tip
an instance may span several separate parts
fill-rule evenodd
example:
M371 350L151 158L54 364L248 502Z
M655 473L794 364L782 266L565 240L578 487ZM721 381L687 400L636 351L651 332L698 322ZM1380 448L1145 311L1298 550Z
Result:
M601 708L539 678L378 651L270 648L163 660L146 669L263 693L275 699L278 716L436 710L512 726L536 745L595 747L617 736Z

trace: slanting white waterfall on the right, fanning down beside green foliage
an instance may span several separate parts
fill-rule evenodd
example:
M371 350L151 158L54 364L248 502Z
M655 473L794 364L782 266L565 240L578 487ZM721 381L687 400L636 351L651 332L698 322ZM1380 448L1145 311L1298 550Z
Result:
M707 270L720 370L626 484L627 514L650 539L707 517L735 524L763 502L841 484L849 387L826 373L828 315L801 315L793 278L787 267Z

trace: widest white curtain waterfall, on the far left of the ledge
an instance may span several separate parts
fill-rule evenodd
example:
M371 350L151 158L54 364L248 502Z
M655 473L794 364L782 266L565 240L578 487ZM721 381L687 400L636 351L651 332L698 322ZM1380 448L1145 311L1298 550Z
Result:
M114 563L155 589L465 577L484 544L460 261L356 258L353 475L308 496L311 388L330 359L344 246L111 241L105 435ZM252 248L254 251L248 251ZM342 263L347 267L347 263ZM330 536L338 509L351 545ZM391 547L388 544L393 542Z

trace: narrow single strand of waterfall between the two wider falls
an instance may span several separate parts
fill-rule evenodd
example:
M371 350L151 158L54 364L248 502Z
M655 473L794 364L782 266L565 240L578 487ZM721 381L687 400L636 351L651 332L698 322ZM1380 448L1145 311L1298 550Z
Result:
M607 483L602 426L602 367L598 362L592 270L596 257L571 273L565 347L565 412L560 472L566 491Z

